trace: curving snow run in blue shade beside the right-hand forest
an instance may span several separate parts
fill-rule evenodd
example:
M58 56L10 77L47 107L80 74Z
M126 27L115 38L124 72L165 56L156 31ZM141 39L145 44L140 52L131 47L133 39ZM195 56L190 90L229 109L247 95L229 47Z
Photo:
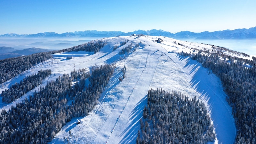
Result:
M234 143L236 127L232 116L232 109L226 101L227 95L223 92L220 79L214 74L209 73L209 70L203 68L196 60L187 59L183 69L186 68L191 69L188 75L192 74L193 76L189 83L199 96L197 99L203 100L208 108L218 143Z

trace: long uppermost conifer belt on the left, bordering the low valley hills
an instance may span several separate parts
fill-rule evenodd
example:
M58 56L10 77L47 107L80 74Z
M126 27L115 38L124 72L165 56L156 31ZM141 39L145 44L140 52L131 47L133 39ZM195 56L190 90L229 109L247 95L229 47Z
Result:
M51 52L40 52L31 54L28 56L21 56L15 58L8 58L0 60L0 84L6 82L9 79L19 75L25 70L32 68L38 63L42 63L45 60L52 58L52 53L58 52L77 52L77 51L88 51L97 53L107 43L105 41L91 41L85 44L73 46L71 48L51 51Z

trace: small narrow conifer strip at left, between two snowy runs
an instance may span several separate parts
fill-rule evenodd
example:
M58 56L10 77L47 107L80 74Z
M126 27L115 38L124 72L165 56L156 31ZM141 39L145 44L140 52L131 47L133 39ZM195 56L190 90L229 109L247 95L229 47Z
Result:
M20 83L15 83L11 85L9 90L2 92L2 101L10 103L17 100L22 95L31 91L33 88L42 84L42 81L52 74L51 69L39 70L37 74L33 74L20 80Z

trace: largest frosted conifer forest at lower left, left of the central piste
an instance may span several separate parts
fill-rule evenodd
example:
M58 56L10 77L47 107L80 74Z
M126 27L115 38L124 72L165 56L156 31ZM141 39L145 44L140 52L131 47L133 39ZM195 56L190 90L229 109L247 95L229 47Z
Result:
M96 104L112 76L110 65L95 68L92 75L84 69L64 74L41 86L9 111L0 113L0 143L47 143L72 117L86 116ZM89 85L85 85L88 78ZM72 85L72 82L76 82ZM75 102L73 100L75 99ZM68 100L72 100L70 105Z

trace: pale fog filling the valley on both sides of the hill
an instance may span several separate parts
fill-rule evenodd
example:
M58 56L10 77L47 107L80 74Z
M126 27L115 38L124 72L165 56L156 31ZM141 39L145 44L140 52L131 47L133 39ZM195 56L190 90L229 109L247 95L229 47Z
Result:
M12 47L16 50L36 47L50 50L60 50L87 43L91 40L102 37L83 37L83 38L0 38L0 47ZM225 47L238 52L244 52L250 56L256 56L256 39L180 39L188 42L212 44Z

